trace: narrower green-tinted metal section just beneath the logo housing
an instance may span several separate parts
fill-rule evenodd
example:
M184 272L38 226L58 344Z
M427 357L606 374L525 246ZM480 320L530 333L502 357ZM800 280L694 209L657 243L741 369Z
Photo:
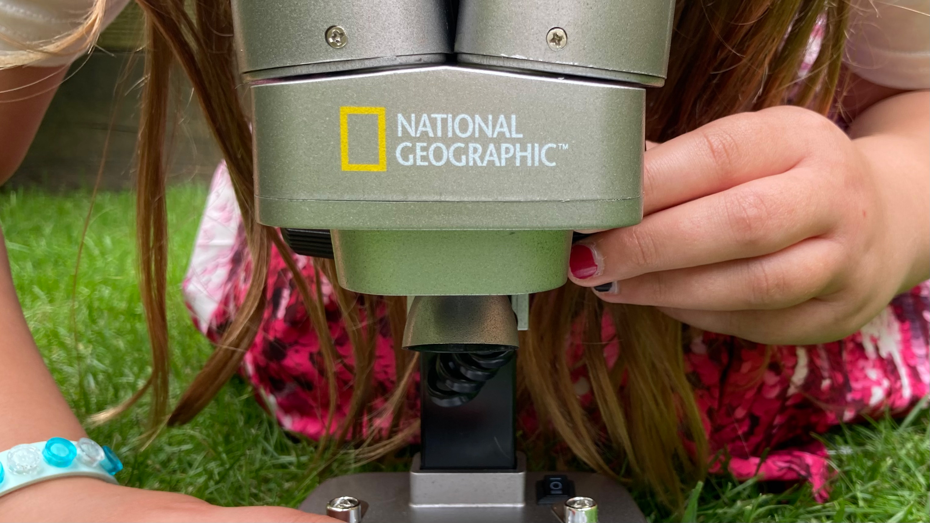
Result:
M565 283L570 242L568 230L333 230L339 282L365 294L554 289Z

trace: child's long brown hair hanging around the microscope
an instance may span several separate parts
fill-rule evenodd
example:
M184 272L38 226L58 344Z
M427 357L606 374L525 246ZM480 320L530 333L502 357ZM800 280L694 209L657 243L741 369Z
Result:
M301 276L277 231L254 219L249 121L237 90L230 2L194 0L193 11L184 0L137 2L148 32L137 227L141 295L153 354L147 384L153 392L153 426L190 421L238 369L259 329L272 245L293 272L320 339L331 421L337 398L334 373L344 362L337 360L326 328L319 287L312 288ZM786 103L829 111L840 76L848 10L848 0L679 0L668 81L647 95L646 136L663 141L728 114ZM799 74L812 41L819 43L817 58L809 71ZM252 284L213 355L168 413L165 137L171 121L170 76L177 67L190 79L229 167L246 228ZM394 437L372 435L367 455L389 451L416 428L398 423L415 358L395 344L398 380L390 412L370 412L366 399L371 394L375 327L361 319L384 305L397 340L405 321L404 300L359 299L339 287L331 262L313 264L333 284L354 355L351 405L342 426L331 427L329 444L357 439L360 431L353 428L365 416L389 415ZM604 318L617 333L619 357L613 365L604 359L604 345L612 341L602 339ZM669 503L681 503L686 482L700 477L707 463L704 427L685 377L681 333L679 323L654 308L606 304L571 283L535 295L530 330L521 334L517 359L519 399L532 404L539 420L527 440L558 440L584 464L614 477L629 464L634 477ZM580 336L580 364L587 367L593 413L582 409L570 379L566 340L572 335Z

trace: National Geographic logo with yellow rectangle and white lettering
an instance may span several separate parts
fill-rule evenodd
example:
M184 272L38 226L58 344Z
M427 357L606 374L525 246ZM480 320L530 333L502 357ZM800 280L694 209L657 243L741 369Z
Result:
M339 108L343 171L388 170L385 120L383 107ZM440 139L420 141L427 137ZM516 114L397 113L392 150L399 165L436 167L554 167L554 151L568 150L566 143L516 139L523 137Z

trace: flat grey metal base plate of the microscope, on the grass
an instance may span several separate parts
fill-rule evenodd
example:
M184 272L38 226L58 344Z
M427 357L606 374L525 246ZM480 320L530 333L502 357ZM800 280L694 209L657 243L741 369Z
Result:
M367 472L333 477L320 484L300 503L300 510L324 514L326 502L351 495L368 503L363 523L557 523L551 504L535 503L536 481L552 472L527 472L526 504L520 507L412 507L407 472ZM644 523L645 517L626 489L607 477L587 472L568 472L579 495L597 500L604 522Z

